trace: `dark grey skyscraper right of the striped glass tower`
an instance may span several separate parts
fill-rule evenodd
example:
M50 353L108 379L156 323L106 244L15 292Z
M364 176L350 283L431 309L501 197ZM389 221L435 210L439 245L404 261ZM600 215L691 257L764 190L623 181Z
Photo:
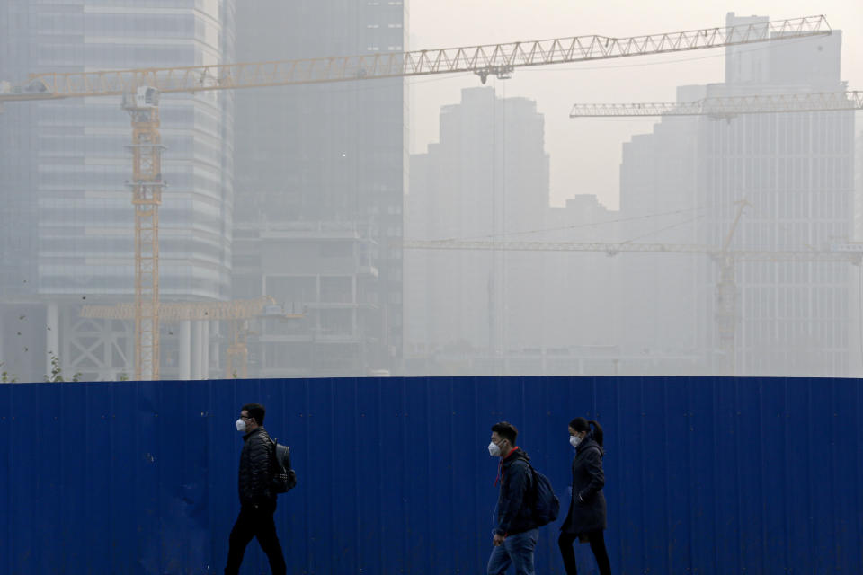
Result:
M238 4L243 61L405 49L401 1ZM236 298L303 314L267 322L258 376L366 376L399 366L405 82L237 93Z

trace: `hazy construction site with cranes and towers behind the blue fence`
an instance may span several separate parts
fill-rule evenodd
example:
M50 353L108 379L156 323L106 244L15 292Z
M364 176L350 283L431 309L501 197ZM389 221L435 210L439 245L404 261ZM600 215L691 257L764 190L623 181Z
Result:
M417 49L402 2L163 4L0 2L6 381L863 374L863 93L826 17ZM507 95L692 53L725 76L674 102ZM617 205L552 190L591 159L547 132L627 119Z

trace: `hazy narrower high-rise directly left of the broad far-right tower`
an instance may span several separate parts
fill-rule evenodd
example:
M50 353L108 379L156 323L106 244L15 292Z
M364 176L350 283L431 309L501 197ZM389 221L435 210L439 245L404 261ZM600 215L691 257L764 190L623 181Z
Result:
M703 86L683 86L678 100L698 100L703 93ZM692 119L668 118L656 124L651 134L635 136L623 145L620 215L626 223L621 224L617 241L697 243L703 213L696 205L695 134ZM678 357L694 351L699 322L691 270L698 258L634 253L615 262L619 274L616 339L626 355Z

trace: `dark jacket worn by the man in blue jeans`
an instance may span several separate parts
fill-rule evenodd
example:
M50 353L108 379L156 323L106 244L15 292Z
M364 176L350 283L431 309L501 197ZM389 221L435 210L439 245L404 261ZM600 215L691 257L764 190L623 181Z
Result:
M497 535L515 535L537 527L533 518L533 471L530 457L519 447L501 460L501 492L497 496Z

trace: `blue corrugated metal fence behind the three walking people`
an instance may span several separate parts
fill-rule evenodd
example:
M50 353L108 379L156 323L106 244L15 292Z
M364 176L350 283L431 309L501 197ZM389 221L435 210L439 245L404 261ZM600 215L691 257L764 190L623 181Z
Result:
M661 377L0 385L0 572L220 573L247 402L292 446L290 573L484 573L490 426L565 508L579 415L605 428L615 573L863 572L858 380ZM538 573L563 572L556 534ZM243 572L269 573L255 543Z

